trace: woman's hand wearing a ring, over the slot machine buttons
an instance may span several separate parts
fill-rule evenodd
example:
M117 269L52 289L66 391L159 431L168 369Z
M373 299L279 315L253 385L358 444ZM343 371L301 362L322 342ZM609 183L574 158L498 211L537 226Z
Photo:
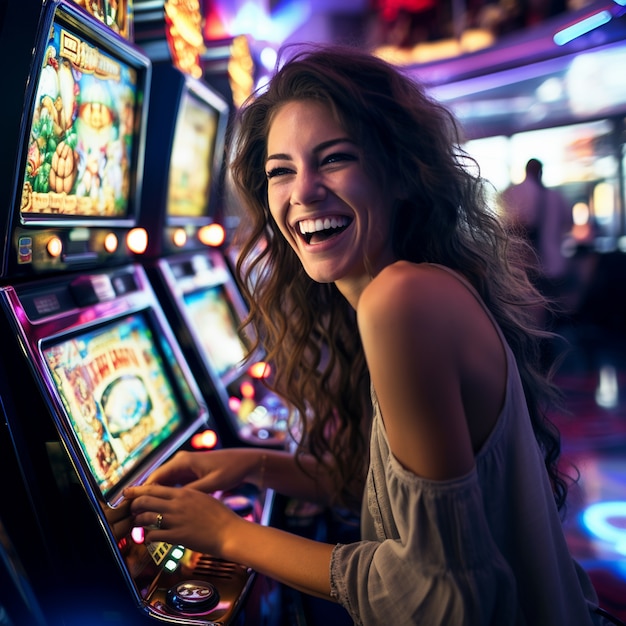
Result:
M146 542L182 544L217 558L227 558L222 547L238 525L250 523L213 496L188 487L128 487L124 497L135 525L145 529Z

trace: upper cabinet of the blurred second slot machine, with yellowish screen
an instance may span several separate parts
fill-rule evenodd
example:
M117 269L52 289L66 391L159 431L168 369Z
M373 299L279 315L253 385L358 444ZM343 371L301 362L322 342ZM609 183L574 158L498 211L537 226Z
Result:
M207 83L167 64L152 68L140 225L146 256L198 247L219 210L229 106ZM176 234L185 232L185 242Z

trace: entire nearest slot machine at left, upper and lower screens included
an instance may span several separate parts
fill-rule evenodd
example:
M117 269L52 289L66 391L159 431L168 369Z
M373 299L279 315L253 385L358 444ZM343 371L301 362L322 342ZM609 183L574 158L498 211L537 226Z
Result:
M253 572L146 544L122 495L195 434L222 445L134 256L151 62L72 2L1 19L0 519L50 626L237 623Z

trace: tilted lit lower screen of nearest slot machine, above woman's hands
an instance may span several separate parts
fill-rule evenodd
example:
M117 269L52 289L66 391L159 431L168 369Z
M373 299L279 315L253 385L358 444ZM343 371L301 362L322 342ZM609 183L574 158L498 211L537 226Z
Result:
M43 354L103 496L182 423L142 314L83 332Z

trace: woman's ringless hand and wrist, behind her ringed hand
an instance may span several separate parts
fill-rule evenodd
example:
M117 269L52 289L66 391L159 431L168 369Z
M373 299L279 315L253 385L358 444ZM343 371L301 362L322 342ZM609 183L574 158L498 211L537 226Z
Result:
M213 493L227 491L252 481L261 466L262 451L254 448L229 448L209 452L179 451L157 468L147 484L184 485Z

